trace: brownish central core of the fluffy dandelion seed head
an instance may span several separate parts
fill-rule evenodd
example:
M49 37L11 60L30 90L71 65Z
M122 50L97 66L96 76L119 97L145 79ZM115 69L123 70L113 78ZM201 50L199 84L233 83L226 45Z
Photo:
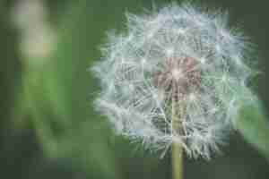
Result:
M167 58L163 72L156 75L156 86L164 90L169 100L180 100L194 89L199 89L201 71L192 57Z

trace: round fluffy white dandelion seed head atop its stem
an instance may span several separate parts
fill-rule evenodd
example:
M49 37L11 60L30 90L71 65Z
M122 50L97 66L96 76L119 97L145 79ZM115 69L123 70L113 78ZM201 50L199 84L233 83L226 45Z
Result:
M178 142L190 157L210 158L251 93L242 34L228 29L227 15L190 4L126 16L126 34L110 34L92 67L97 109L146 148Z

